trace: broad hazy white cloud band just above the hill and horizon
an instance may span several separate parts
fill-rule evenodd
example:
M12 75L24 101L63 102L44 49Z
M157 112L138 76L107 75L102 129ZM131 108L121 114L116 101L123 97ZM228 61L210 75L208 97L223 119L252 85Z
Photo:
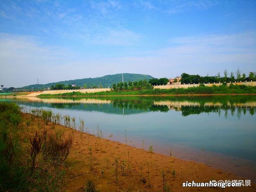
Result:
M130 35L130 32L120 31ZM108 33L114 37L120 31ZM122 72L171 78L183 72L216 75L218 71L237 68L247 74L255 71L255 38L254 31L173 38L169 47L159 50L89 59L64 47L46 46L32 36L0 34L0 82L6 87L17 87L36 83L37 78L39 83L49 83ZM112 42L104 40L103 36L97 39L100 40Z

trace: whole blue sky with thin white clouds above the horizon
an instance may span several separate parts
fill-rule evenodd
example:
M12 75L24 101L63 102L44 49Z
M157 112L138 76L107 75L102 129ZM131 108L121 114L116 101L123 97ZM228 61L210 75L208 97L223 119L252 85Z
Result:
M0 0L0 83L256 71L256 1Z

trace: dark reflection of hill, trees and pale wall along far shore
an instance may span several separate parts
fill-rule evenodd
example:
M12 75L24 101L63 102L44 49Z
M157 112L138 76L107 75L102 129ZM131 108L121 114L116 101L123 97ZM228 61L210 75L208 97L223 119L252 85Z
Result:
M256 96L179 96L179 97L46 97L3 99L31 107L50 107L79 111L99 111L110 114L138 114L149 111L182 111L183 116L202 112L231 112L237 109L238 116L249 111L254 114Z

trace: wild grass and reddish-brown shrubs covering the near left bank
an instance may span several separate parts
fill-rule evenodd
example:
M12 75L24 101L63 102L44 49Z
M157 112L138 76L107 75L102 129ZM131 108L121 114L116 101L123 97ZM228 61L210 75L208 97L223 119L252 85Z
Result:
M42 115L48 115L44 110L39 112L42 120L37 121L38 130L46 125ZM0 102L0 191L61 191L63 161L72 140L47 131L30 138L35 122L35 114L24 120L19 106Z

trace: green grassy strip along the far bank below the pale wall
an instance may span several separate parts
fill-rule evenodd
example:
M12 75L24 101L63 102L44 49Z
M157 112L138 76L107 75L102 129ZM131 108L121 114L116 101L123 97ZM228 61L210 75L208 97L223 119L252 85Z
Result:
M41 94L44 96L101 96L101 95L183 95L183 94L251 94L256 93L256 86L230 85L230 86L198 86L190 88L173 88L173 89L144 89L144 90L120 90L96 93L59 93L59 94Z

